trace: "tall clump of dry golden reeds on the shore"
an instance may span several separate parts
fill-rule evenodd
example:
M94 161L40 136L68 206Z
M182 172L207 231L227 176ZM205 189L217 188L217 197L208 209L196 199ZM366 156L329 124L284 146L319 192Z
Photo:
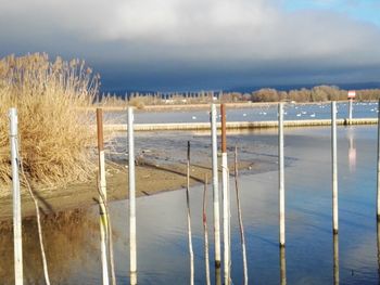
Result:
M28 179L45 185L86 181L92 173L90 114L99 77L78 60L47 54L0 60L0 183L11 181L8 109L18 113L20 155Z

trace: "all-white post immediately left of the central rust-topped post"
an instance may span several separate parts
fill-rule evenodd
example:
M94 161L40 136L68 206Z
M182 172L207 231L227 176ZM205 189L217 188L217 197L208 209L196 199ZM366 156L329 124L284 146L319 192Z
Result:
M213 198L214 198L214 241L215 241L215 267L220 267L220 213L219 213L219 185L218 185L218 157L217 157L217 126L216 106L211 105L211 133L213 157Z

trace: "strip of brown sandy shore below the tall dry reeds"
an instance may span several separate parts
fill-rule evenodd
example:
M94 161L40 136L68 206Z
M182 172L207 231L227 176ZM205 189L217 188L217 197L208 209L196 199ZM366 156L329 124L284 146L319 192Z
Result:
M240 169L248 172L258 171L258 166L251 161L241 161ZM231 171L233 166L231 166ZM114 164L107 165L107 198L109 200L128 198L128 171L126 167ZM149 196L160 192L180 190L186 187L186 165L172 164L165 166L140 165L136 167L136 195ZM206 165L191 166L191 184L203 183L204 176L211 180L211 168ZM94 176L96 177L96 176ZM10 187L9 187L10 189ZM211 189L211 187L210 187ZM0 221L12 218L11 191L1 191ZM64 211L68 209L86 208L98 203L96 179L88 183L69 184L59 189L39 190L36 187L40 209L43 213ZM22 215L35 216L35 206L26 189L22 189Z

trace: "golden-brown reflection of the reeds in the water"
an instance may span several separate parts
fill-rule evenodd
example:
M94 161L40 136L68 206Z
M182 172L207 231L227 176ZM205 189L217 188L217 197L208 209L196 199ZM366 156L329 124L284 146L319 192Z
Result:
M99 232L97 223L87 219L84 210L51 215L42 219L47 261L52 284L69 284L73 269L97 267L88 262L88 255L97 252ZM0 284L13 284L13 234L12 223L0 224ZM93 238L94 237L94 238ZM23 220L23 251L25 284L43 281L41 251L35 218ZM84 262L86 260L86 262ZM93 261L96 261L92 258ZM75 270L74 270L75 271Z

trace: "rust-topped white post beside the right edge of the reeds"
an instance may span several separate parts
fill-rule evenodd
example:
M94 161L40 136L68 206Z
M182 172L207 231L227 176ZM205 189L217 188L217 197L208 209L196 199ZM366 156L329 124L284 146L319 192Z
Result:
M99 215L100 215L100 250L102 260L102 277L103 285L107 285L109 280L109 258L107 258L107 217L104 205L106 199L106 183L105 183L105 161L104 161L104 142L103 142L103 111L97 108L97 130L98 130L98 152L99 152Z

